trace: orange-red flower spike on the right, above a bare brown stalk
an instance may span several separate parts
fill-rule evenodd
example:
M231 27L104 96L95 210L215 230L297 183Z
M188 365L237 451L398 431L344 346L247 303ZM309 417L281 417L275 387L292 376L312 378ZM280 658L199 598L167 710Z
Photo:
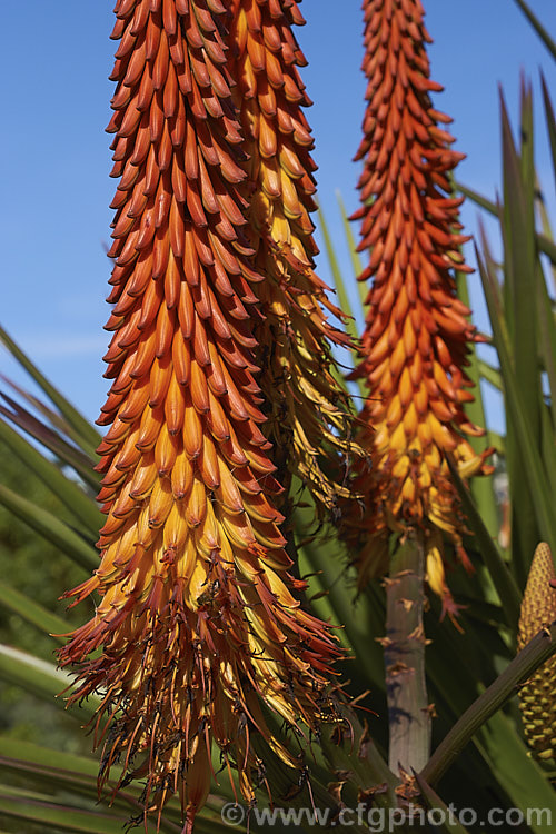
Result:
M447 457L461 477L485 473L464 435L480 435L464 404L473 400L465 373L468 342L477 340L457 298L454 270L470 271L458 247L460 199L448 176L463 158L450 150L450 119L433 109L419 0L366 0L364 71L368 79L364 139L356 159L363 207L360 250L370 250L360 280L373 278L360 363L354 377L368 385L360 414L370 473L356 487L369 502L347 535L365 540L360 579L384 573L388 534L421 530L433 585L453 608L439 558L439 532L459 555L464 519ZM436 530L436 533L435 533Z

